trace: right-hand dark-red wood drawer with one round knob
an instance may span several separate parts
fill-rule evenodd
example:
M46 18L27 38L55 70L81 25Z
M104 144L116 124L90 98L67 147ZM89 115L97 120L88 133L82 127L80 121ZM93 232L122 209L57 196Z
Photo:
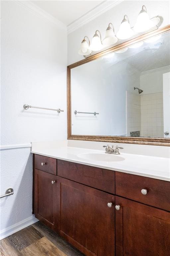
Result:
M115 173L115 179L116 195L170 211L170 182L121 172Z

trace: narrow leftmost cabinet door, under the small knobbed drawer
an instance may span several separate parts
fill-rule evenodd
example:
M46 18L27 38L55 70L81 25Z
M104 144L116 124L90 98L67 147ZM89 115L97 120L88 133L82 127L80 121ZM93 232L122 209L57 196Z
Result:
M57 203L55 202L57 196L56 178L56 175L34 170L34 214L37 219L54 230L57 212Z

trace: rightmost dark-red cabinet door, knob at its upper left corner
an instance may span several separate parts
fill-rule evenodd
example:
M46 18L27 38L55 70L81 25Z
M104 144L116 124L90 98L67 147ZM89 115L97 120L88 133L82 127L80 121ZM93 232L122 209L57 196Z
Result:
M169 256L170 212L115 197L116 256ZM119 209L119 208L118 208Z

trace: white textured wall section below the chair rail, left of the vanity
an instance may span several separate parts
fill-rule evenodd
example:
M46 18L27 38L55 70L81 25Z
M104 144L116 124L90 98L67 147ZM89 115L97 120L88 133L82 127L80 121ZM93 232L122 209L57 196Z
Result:
M12 187L14 194L0 201L1 230L32 216L32 154L30 148L1 151L1 194Z

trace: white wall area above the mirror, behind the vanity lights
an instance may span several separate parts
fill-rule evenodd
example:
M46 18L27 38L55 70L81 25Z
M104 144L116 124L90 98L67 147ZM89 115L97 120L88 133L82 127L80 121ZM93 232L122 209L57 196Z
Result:
M161 26L170 23L170 1L123 1L68 35L68 64L84 58L78 54L78 49L85 35L89 36L91 40L96 29L98 29L102 34L102 38L104 38L110 22L114 24L115 33L117 33L125 14L129 17L130 25L134 26L143 4L146 5L149 17L157 15L163 17L164 21Z

